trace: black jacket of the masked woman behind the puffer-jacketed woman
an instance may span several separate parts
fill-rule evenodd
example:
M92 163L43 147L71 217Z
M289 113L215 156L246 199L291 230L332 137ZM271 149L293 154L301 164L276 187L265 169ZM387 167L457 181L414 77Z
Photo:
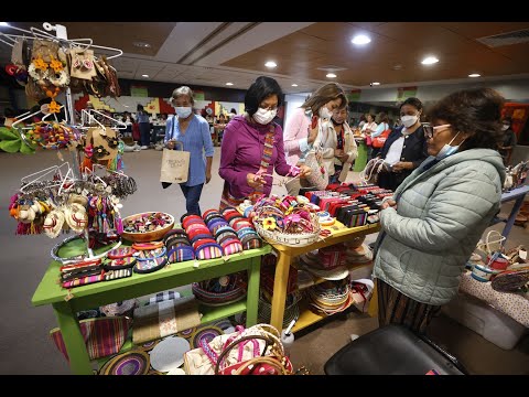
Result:
M391 131L388 139L384 143L384 148L380 152L382 159L386 159L391 144L399 139L402 133L402 128L399 127ZM413 163L413 170L429 157L427 139L424 138L424 130L420 126L413 133L410 133L404 138L404 146L402 147L402 153L400 154L400 161L411 161ZM378 185L384 189L390 189L395 191L402 181L411 174L413 170L406 170L399 173L387 172L380 173L378 179Z

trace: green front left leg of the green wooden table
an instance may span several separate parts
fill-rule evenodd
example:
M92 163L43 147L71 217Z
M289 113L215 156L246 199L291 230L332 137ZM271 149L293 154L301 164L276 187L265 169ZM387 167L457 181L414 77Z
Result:
M68 352L69 367L75 375L93 375L90 357L86 351L85 340L80 333L77 315L72 311L68 302L53 304L58 328Z

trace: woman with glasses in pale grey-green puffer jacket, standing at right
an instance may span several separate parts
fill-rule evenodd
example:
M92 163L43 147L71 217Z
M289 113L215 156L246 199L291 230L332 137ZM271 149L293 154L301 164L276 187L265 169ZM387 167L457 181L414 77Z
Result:
M465 264L500 207L503 104L497 92L473 88L429 112L430 157L382 201L373 272L380 326L400 323L422 333L457 294Z

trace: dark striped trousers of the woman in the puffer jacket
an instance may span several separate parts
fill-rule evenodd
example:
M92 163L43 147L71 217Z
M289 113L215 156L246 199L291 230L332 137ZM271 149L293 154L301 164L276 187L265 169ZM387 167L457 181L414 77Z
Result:
M397 323L411 331L424 333L432 318L441 310L441 307L408 298L380 279L377 279L377 289L379 326Z

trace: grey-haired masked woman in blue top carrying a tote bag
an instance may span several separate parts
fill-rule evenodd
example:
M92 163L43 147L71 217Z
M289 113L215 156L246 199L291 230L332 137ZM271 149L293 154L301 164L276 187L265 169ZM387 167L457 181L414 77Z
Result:
M209 183L212 179L214 148L209 125L202 116L193 112L195 99L190 87L176 88L172 98L176 115L166 121L163 141L168 149L174 149L176 141L181 141L183 150L191 153L187 182L180 183L180 187L184 193L187 213L201 215L198 201L202 187L204 182ZM162 184L164 189L170 185L170 183Z

